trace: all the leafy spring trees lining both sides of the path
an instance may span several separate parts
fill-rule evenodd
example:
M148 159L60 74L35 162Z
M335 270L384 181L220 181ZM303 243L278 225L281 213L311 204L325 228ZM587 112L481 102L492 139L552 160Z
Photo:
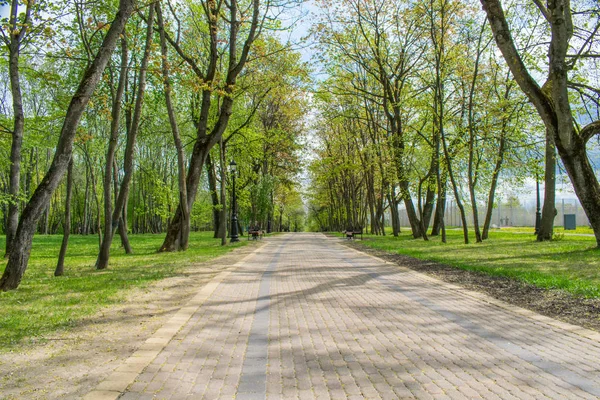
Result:
M97 235L103 269L115 235L183 251L191 230L225 243L234 213L445 240L452 201L480 242L503 185L532 179L548 240L557 170L600 246L597 2L319 0L310 47L287 40L302 3L0 2L0 288L36 233L63 234L62 257Z

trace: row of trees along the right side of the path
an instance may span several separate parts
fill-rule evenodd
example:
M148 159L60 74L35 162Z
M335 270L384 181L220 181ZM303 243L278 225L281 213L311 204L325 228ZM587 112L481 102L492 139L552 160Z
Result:
M331 62L310 167L318 228L368 222L384 233L389 208L398 234L402 203L415 238L445 240L451 197L464 241L468 221L482 241L499 185L529 176L546 183L538 239L548 240L558 149L600 245L586 148L599 132L600 10L586 1L511 3L506 12L499 1L480 5L487 15L453 0L321 3L314 31Z

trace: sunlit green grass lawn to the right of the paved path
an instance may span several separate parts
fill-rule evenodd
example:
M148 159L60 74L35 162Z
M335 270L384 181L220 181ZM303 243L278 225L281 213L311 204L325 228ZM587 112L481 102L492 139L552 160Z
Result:
M594 237L564 235L538 243L531 235L492 231L484 243L463 243L462 231L448 230L448 243L413 239L409 229L393 236L365 236L364 244L422 260L522 280L539 287L562 289L575 295L600 298L600 250Z

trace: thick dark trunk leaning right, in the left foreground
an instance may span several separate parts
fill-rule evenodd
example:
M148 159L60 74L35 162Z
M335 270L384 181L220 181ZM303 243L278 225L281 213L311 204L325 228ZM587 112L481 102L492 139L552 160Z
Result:
M31 196L21 215L21 220L19 221L13 241L13 250L8 257L4 274L0 278L0 290L16 289L23 278L23 274L27 269L31 253L31 243L37 223L47 207L52 193L58 187L68 168L73 152L73 140L81 116L102 77L102 72L117 44L119 35L123 31L125 23L131 14L133 4L133 0L121 0L119 2L117 15L110 25L98 53L83 74L79 87L71 99L50 169Z

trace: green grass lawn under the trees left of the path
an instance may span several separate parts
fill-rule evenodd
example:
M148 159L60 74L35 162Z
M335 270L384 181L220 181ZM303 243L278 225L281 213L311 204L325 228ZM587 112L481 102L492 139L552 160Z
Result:
M57 330L69 328L100 308L123 302L128 290L176 275L190 263L202 262L244 246L222 247L212 232L192 233L189 250L156 253L161 235L131 235L134 254L119 248L111 251L107 270L94 268L97 236L72 235L65 259L65 275L54 277L62 236L37 235L29 267L19 288L0 292L0 351L9 350L25 338L43 340ZM4 240L0 240L4 248ZM6 261L0 264L4 271Z

